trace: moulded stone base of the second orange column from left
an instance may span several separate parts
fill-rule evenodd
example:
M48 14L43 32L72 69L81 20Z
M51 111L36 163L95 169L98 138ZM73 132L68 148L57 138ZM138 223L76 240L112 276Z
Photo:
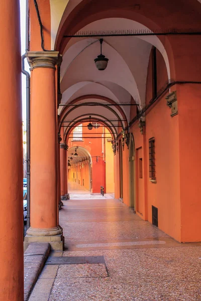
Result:
M62 234L62 228L35 229L30 227L24 239L25 250L31 242L48 242L52 250L63 251L64 236Z

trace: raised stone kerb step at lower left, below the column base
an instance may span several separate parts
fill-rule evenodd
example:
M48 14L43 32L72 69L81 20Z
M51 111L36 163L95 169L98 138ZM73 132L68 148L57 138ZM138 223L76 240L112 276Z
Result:
M30 243L24 253L24 301L29 299L45 262L50 254L49 243Z

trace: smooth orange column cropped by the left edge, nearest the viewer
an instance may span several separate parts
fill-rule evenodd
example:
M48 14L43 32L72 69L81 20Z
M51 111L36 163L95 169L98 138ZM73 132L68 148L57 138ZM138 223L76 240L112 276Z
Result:
M1 3L0 299L24 300L23 139L19 1ZM9 205L10 204L10 205Z

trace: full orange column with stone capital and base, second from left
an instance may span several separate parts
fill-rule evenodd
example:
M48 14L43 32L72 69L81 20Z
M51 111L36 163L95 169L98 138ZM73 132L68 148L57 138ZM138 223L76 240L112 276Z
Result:
M30 242L49 242L61 250L62 229L58 226L57 124L55 65L58 52L28 52L31 66L31 227Z

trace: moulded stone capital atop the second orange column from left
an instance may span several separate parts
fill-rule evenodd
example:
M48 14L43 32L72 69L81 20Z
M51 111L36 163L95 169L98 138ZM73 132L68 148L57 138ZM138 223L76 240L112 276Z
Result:
M55 65L60 66L62 56L58 51L28 51L26 54L30 70L35 68L56 69Z

